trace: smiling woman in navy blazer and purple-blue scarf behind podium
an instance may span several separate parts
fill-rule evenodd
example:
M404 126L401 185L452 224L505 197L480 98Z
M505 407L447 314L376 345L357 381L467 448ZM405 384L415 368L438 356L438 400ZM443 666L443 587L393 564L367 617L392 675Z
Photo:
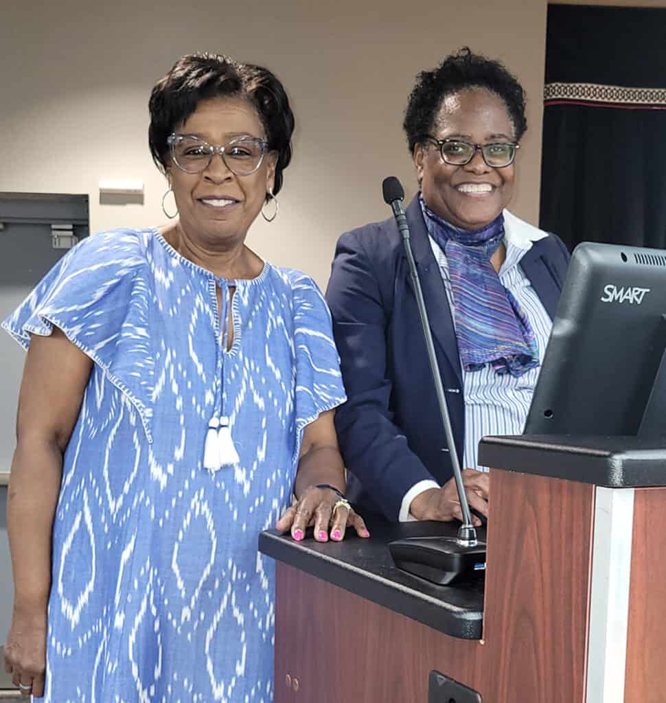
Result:
M419 74L404 120L420 186L406 209L414 258L466 493L484 515L487 473L470 462L483 434L522 432L569 260L558 237L506 210L525 127L520 84L468 49ZM340 237L326 297L348 397L335 417L348 497L390 520L460 519L393 218ZM515 353L494 359L504 335ZM502 344L477 363L489 337Z

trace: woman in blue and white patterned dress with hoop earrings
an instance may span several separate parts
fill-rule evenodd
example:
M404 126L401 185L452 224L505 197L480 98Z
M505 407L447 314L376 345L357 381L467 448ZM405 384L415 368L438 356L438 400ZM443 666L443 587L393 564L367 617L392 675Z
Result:
M277 212L293 114L271 72L210 55L150 108L178 218L82 241L4 322L28 349L5 665L54 703L269 703L257 534L368 536L341 499L326 304L244 244Z

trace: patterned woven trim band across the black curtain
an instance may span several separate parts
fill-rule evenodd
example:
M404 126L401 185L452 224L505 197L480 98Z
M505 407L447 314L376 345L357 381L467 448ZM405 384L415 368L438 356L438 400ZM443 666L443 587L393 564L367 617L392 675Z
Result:
M544 106L550 105L666 110L666 88L626 88L599 83L547 83L544 86Z

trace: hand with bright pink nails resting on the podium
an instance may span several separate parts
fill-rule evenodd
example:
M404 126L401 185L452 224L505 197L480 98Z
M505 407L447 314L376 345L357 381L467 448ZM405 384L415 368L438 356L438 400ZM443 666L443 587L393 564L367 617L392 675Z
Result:
M291 531L291 536L300 541L312 525L318 542L326 542L329 537L339 542L345 538L347 527L354 527L359 537L370 536L363 518L329 488L309 486L300 499L285 510L275 527L282 532Z

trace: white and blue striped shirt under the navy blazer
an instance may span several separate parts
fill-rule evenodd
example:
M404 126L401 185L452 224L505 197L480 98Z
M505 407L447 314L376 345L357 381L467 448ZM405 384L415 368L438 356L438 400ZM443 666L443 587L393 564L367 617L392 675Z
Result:
M506 258L499 269L499 280L505 288L513 293L518 304L527 314L537 339L539 359L543 359L553 323L519 264L520 259L532 246L532 241L545 237L546 233L527 225L529 228L527 237L520 236L516 232L517 225L525 226L527 223L523 223L505 211ZM430 246L433 248L433 254L440 267L453 318L454 300L447 257L431 237ZM475 371L466 371L463 368L463 397L465 399L463 468L488 470L487 467L478 465L479 442L485 435L522 434L540 370L541 366L537 366L537 368L532 368L522 376L515 378L508 373L495 373L489 364ZM423 491L437 487L439 485L435 481L420 481L412 486L403 498L399 520L404 522L413 519L409 514L411 501Z

